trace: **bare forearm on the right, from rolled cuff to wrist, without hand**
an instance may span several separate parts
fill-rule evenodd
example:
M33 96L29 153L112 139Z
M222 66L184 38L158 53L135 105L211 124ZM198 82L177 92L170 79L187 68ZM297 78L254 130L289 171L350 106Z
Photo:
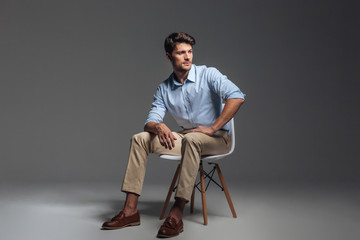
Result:
M239 110L240 106L243 104L244 99L241 98L231 98L228 99L225 103L224 109L220 114L219 118L211 126L214 131L221 129L227 122L229 122Z

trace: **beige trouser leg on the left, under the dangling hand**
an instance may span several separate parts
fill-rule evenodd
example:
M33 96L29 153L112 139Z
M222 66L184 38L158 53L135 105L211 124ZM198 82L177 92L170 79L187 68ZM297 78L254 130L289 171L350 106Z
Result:
M121 191L141 194L147 157L150 153L181 155L182 134L173 132L177 138L173 149L163 147L157 135L149 132L135 134L131 138L130 153Z

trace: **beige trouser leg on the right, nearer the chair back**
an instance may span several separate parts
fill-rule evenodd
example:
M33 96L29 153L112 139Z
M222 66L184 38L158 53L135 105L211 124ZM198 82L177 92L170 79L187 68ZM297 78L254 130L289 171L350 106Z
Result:
M188 133L182 139L181 168L175 197L190 200L202 155L225 154L231 141L227 131L217 131L210 137L203 133Z

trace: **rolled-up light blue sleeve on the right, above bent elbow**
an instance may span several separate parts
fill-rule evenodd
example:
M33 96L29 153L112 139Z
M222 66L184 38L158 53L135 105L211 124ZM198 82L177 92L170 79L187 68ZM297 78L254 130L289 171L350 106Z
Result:
M245 100L246 94L230 81L225 75L221 74L216 68L209 68L210 70L210 86L223 101L230 98L241 98Z

